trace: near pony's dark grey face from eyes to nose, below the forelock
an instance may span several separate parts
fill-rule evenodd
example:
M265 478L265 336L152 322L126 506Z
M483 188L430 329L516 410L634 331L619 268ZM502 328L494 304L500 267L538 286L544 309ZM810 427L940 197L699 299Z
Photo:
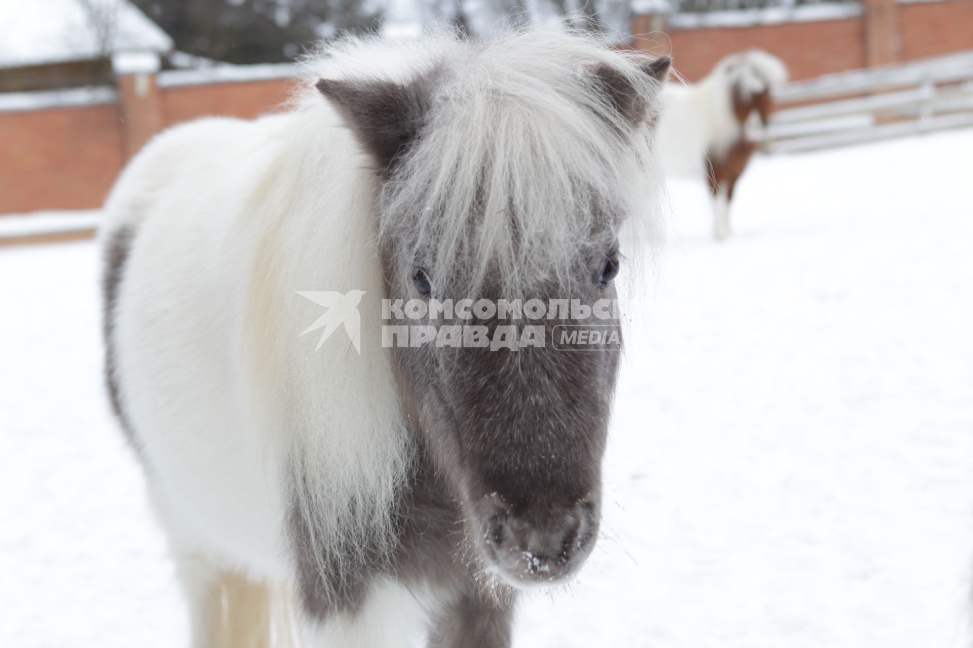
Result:
M453 304L499 300L491 290L469 294L466 282L450 277L450 268L417 267L399 254L410 249L386 256L390 297ZM579 250L569 284L539 282L521 296L522 303L528 298L573 303L585 311L599 300L614 300L617 256L611 248L600 253ZM572 574L597 535L601 458L621 332L613 317L589 328L591 320L561 319L562 314L538 320L426 316L408 324L483 327L492 342L507 326L517 331L506 329L519 342L516 350L427 343L393 352L407 412L435 468L457 494L469 535L488 571L512 584L551 583ZM538 344L521 346L530 326ZM592 329L614 342L561 338L565 330Z

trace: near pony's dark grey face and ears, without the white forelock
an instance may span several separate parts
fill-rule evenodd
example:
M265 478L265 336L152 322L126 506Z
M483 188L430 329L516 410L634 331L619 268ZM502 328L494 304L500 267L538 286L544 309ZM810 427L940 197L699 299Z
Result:
M664 58L646 62L642 71L662 81L668 68ZM606 68L593 74L600 75L599 91L622 119L637 125L645 118L645 97L636 96L617 73ZM432 83L322 80L318 88L387 183L394 180L397 165L410 163L407 153L421 137L432 95L426 85ZM395 187L391 182L384 190ZM396 200L382 204L399 210L379 214L382 222L418 222L423 209ZM424 457L455 494L486 571L513 585L557 582L577 571L595 544L601 459L621 350L617 315L603 306L616 298L612 280L619 267L622 216L606 213L595 219L593 236L570 251L570 267L517 277L517 290L510 289L504 274L509 268L494 264L486 275L475 277L466 270L477 267L464 257L477 252L472 243L480 218L476 213L440 215L461 217L471 227L462 248L466 252L450 262L425 254L413 231L418 226L398 226L381 240L385 297L414 306L403 311L406 320L383 323L410 328L408 342L399 335L387 339L405 413ZM494 308L469 310L481 299ZM501 300L519 300L524 310L520 315L516 307L515 313L501 312ZM547 312L530 317L528 300L537 300ZM452 307L431 317L433 301ZM425 307L416 308L419 304ZM598 304L601 315L593 319ZM558 310L548 317L552 309ZM419 327L425 333L417 340ZM598 341L592 342L595 328ZM450 333L441 335L444 329ZM588 334L572 337L572 330Z

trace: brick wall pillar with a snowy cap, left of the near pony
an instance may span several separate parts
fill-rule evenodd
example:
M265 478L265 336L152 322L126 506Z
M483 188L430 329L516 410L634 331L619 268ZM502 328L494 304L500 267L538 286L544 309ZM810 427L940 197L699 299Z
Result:
M150 51L116 53L112 58L119 92L122 141L126 159L162 130L162 100L156 73L159 54Z

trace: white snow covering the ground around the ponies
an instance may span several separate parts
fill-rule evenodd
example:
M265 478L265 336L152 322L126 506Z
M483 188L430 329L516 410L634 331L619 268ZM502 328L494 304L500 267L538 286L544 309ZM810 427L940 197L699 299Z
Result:
M604 536L518 646L969 645L973 130L760 158L737 235L672 191ZM0 250L0 646L185 645L102 394L90 242Z

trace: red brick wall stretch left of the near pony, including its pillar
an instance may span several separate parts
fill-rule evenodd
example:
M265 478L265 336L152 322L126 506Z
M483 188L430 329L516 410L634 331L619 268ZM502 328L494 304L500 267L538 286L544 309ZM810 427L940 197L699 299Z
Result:
M126 159L162 128L212 115L258 117L286 100L290 84L159 87L154 75L133 75L118 89L119 105L0 112L0 214L99 207Z

